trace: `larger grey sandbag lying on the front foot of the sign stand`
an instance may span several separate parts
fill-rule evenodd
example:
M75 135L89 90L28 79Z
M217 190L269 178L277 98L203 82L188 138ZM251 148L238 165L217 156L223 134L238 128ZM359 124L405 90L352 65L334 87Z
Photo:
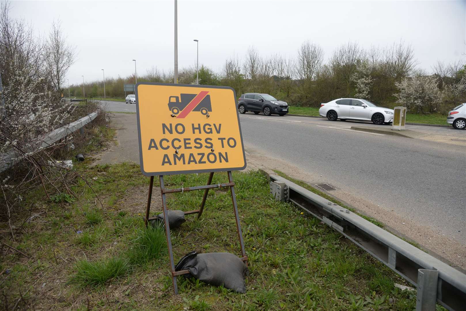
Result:
M186 254L175 267L175 271L188 270L189 275L214 286L246 292L244 276L247 266L238 256L230 253L197 254L195 251Z

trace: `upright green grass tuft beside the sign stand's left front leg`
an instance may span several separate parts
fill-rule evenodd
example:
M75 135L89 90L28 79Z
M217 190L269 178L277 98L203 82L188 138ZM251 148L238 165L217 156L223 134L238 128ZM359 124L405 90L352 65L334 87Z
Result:
M149 226L137 231L137 238L133 242L134 246L127 255L131 264L144 265L165 253L167 241L164 228L164 225L159 223L154 227Z

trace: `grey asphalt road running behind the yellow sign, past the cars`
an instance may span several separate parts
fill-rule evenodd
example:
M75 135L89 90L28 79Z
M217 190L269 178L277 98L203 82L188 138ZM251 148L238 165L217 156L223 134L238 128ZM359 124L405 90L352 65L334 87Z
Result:
M136 111L134 104L105 103L108 111ZM240 122L244 144L251 150L286 161L303 173L322 175L319 181L466 241L464 146L350 129L370 123L251 113L240 115ZM406 128L466 134L451 128Z

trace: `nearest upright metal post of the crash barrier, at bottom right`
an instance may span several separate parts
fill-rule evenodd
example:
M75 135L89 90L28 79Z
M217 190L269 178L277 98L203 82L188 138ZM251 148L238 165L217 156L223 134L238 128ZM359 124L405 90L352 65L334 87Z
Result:
M439 270L432 267L418 270L418 294L416 296L416 311L435 311L437 302L437 282Z

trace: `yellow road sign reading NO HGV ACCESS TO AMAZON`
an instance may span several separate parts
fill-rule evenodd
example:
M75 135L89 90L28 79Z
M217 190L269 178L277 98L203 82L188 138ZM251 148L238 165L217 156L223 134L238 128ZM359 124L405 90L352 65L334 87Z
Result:
M144 175L246 168L232 88L137 83L136 113Z

